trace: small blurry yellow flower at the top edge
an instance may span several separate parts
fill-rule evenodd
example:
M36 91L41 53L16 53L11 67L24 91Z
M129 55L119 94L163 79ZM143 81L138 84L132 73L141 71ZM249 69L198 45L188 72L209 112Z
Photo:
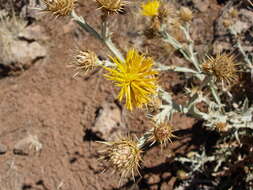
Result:
M158 0L148 1L147 3L143 3L142 15L144 16L158 16L159 14L160 2Z

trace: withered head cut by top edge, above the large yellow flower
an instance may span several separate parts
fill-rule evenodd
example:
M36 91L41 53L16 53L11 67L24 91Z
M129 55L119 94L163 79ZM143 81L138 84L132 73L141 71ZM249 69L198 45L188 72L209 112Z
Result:
M96 0L102 10L110 13L119 13L123 11L127 1L124 0Z

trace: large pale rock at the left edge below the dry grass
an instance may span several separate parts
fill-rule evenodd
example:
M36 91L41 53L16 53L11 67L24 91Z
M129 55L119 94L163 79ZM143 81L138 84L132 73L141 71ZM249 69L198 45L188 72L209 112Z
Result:
M9 30L8 27L1 29L5 36L0 35L0 47L3 47L0 51L0 73L5 76L28 69L47 55L46 48L38 43L40 36L43 36L41 27L20 28L17 31Z

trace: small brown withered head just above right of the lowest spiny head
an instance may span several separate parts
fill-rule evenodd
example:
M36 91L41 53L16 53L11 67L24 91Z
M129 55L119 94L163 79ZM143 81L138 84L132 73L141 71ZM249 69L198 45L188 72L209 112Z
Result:
M166 145L168 141L172 142L171 139L175 137L176 136L173 134L173 126L168 122L164 122L154 125L149 140L153 141L153 143L158 142L162 145Z

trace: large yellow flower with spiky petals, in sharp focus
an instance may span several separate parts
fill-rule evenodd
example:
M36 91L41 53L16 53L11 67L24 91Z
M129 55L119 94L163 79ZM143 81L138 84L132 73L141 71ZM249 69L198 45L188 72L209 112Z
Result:
M149 103L151 95L156 94L157 88L155 77L157 72L152 69L153 59L140 55L135 49L128 51L126 61L111 59L116 67L105 68L109 71L105 77L121 88L118 99L122 101L125 97L126 107L129 110Z

